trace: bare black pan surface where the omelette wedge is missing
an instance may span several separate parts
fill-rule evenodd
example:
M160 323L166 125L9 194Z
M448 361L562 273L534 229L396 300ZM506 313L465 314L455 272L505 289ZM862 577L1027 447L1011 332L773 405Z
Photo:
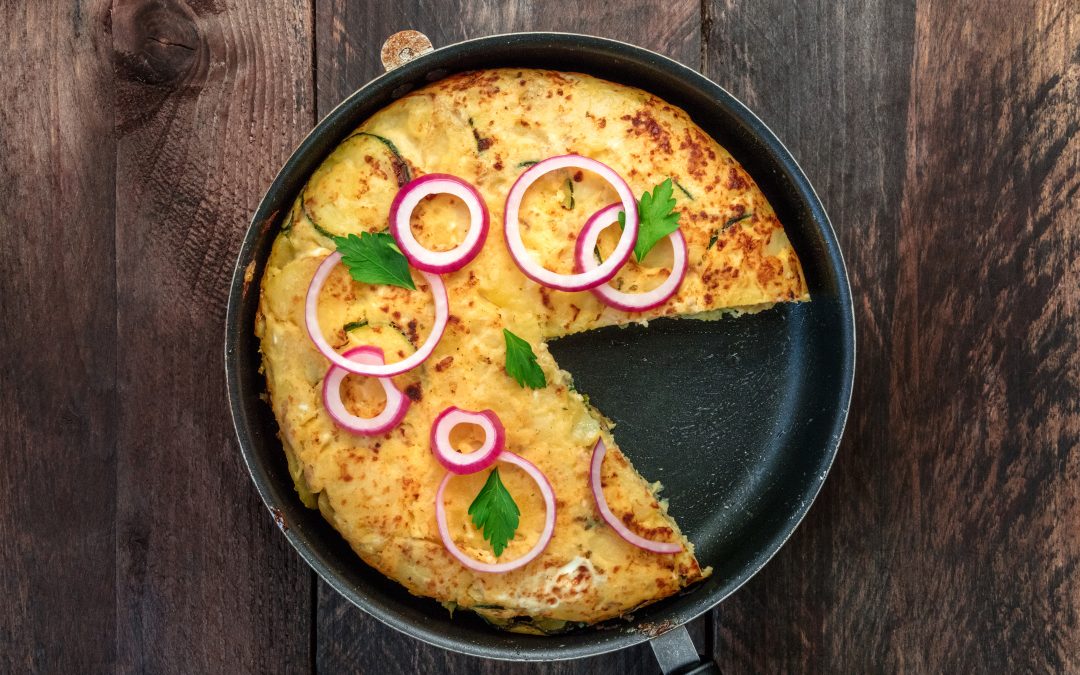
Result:
M616 422L638 472L663 483L702 565L745 562L747 544L789 517L787 500L819 470L809 440L814 420L827 424L818 393L836 373L827 330L814 325L824 309L664 319L550 343L578 390Z

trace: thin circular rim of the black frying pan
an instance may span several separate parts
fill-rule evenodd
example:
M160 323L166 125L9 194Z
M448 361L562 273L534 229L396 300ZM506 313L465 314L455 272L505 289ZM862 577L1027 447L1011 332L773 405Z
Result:
M249 264L254 262L253 254L255 251L255 244L259 239L260 230L272 225L276 217L276 213L267 213L268 198L270 198L271 194L285 190L288 187L287 184L293 183L294 179L291 177L291 174L294 173L295 165L299 162L298 158L310 152L311 147L314 145L316 139L333 132L335 124L340 122L341 118L348 117L348 112L353 108L362 106L367 96L376 87L383 85L387 81L404 78L404 76L409 72L419 72L419 69L424 64L435 63L432 60L433 58L451 58L455 54L460 53L463 50L505 48L514 42L534 42L532 46L539 46L544 41L551 42L552 45L588 44L612 54L623 54L637 58L645 57L653 62L654 65L671 72L674 77L680 78L684 82L687 82L713 100L717 102L717 105L723 105L730 109L734 116L739 117L747 124L747 126L751 127L756 139L761 141L762 146L766 148L765 152L771 154L775 162L786 168L789 174L788 177L798 194L798 199L804 202L805 206L812 214L810 220L813 224L813 228L819 230L819 233L825 243L824 257L827 259L828 270L836 278L836 294L841 306L841 321L839 327L843 338L843 360L840 366L841 377L838 391L839 397L836 402L836 414L834 416L831 433L828 435L829 440L827 447L823 448L823 470L808 486L809 489L806 492L806 499L802 500L799 508L794 510L792 517L788 518L783 527L778 529L778 537L773 539L768 546L764 548L768 552L759 558L753 561L752 565L747 565L737 578L733 578L725 585L711 591L711 596L705 596L705 602L699 603L697 608L680 612L678 620L671 622L670 627L669 625L664 626L665 631L672 630L700 617L706 611L711 611L721 602L730 597L731 594L741 589L750 579L757 575L761 568L764 568L769 561L772 559L773 556L775 556L780 549L782 549L783 545L789 540L798 525L806 517L810 507L821 492L822 486L824 485L827 474L836 459L839 444L843 435L851 405L856 355L854 306L851 299L851 288L843 254L840 249L835 230L832 227L832 222L825 213L824 206L813 186L810 184L801 166L783 145L783 143L753 111L727 92L727 90L723 86L713 82L697 70L678 63L677 60L645 48L589 35L549 31L500 33L464 40L438 48L407 64L404 64L397 69L380 73L350 94L340 104L335 106L334 109L332 109L322 120L320 120L311 132L309 132L298 144L296 149L282 165L282 168L278 172L270 187L264 193L261 200L259 201L259 206L257 207L244 234L233 271L232 282L230 284L229 301L226 311L225 366L226 384L229 397L229 411L233 422L237 441L241 448L241 455L244 459L244 464L255 483L260 498L271 514L280 512L281 503L273 495L270 487L273 478L268 473L266 467L262 465L254 450L255 441L251 433L247 416L243 409L243 401L240 396L239 382L239 370L241 368L241 364L238 362L238 360L242 357L242 354L238 353L237 343L239 332L249 328L249 326L241 325L241 303L246 295L246 285L249 283L248 281L245 281L245 276ZM295 190L288 191L291 193L295 192ZM444 633L437 630L432 630L429 626L418 624L408 618L399 616L393 608L384 607L381 603L373 600L361 590L352 588L345 578L335 572L330 566L327 565L325 556L321 554L318 546L314 545L314 542L309 541L307 537L298 534L296 528L283 527L282 530L288 542L294 549L296 549L297 553L300 554L300 557L308 564L308 566L310 566L324 581L326 581L327 584L346 597L350 603L375 617L380 622L401 631L410 637L459 653L498 660L556 661L599 656L647 642L651 637L656 636L648 635L640 631L596 631L590 634L590 637L593 639L582 644L569 646L559 645L557 643L557 636L542 638L546 640L548 644L540 644L536 647L530 645L528 648L474 644L461 638L445 635Z

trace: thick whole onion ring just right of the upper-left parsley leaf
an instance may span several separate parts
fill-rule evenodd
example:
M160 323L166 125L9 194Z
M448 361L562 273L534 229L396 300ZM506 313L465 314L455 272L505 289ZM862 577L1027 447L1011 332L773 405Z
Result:
M449 251L431 251L423 247L413 235L409 219L420 200L431 194L453 194L469 207L469 231L464 240ZM409 181L394 197L390 205L390 233L418 270L443 274L454 272L476 257L487 239L487 205L476 188L457 176L449 174L428 174Z

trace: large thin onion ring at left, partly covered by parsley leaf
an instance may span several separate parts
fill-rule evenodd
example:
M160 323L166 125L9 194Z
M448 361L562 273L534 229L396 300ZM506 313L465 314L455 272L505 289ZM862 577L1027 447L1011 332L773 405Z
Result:
M368 363L361 363L357 361L352 361L347 359L341 354L334 351L326 338L323 337L322 328L319 327L319 293L323 289L323 284L326 283L326 278L330 275L330 271L334 266L341 260L341 254L334 252L326 256L326 259L322 261L319 269L315 270L315 275L311 279L311 285L308 286L308 297L305 301L305 312L303 321L307 324L308 337L311 341L315 343L315 348L326 356L330 363L336 366L345 368L349 373L355 373L356 375L370 375L374 377L390 377L393 375L401 375L417 367L423 363L431 352L435 350L435 346L438 345L438 340L443 337L443 332L446 330L446 322L450 315L450 302L446 297L446 286L443 285L443 280L436 274L430 272L420 271L420 274L431 286L431 296L435 300L435 324L431 327L431 333L428 335L428 339L424 340L423 345L420 346L415 352L409 354L407 357L401 361L395 361L394 363L383 363L379 365L373 365Z

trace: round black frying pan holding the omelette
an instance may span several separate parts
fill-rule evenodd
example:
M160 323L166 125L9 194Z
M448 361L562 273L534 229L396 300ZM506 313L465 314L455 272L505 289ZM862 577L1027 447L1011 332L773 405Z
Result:
M733 593L806 515L836 456L854 377L851 292L836 235L791 153L731 94L642 48L529 32L438 50L415 31L383 45L389 69L335 108L300 144L259 204L229 294L226 376L252 478L288 541L335 590L413 637L461 653L540 661L591 657L651 640L664 672L712 672L683 625ZM757 180L804 266L812 301L716 322L660 320L551 343L562 367L618 424L620 445L650 481L713 576L632 617L557 636L498 631L469 612L410 595L352 552L293 489L270 407L260 399L254 335L271 243L311 172L378 109L447 75L491 67L586 72L644 89L686 110Z

